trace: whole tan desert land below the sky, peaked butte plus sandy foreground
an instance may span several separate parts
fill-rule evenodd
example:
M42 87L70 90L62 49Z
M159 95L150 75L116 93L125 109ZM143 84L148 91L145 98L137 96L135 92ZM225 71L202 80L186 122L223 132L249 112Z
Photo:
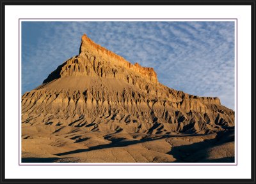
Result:
M79 55L22 96L22 162L222 161L234 162L233 110L85 34Z

